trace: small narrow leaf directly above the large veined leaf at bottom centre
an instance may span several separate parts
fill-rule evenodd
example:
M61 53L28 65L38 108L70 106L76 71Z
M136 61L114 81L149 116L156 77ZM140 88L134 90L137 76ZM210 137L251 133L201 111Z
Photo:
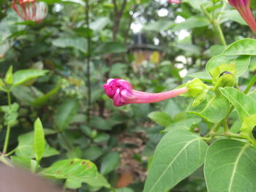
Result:
M171 123L170 126L167 126L163 131L172 131L175 128L191 128L193 125L200 123L201 118L189 118L185 120L178 121L176 123Z

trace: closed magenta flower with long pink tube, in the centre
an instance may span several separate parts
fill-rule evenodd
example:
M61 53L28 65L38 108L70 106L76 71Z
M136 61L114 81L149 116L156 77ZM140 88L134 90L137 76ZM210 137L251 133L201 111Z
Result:
M132 85L129 82L120 79L109 79L107 84L103 85L103 88L110 99L113 99L113 104L116 107L121 107L125 104L154 103L188 91L188 88L178 88L162 93L146 93L132 89Z

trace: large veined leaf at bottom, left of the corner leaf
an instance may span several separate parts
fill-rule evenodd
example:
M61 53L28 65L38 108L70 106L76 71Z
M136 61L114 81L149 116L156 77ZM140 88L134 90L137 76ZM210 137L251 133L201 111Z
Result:
M167 191L203 164L207 145L200 137L176 129L157 145L143 192Z

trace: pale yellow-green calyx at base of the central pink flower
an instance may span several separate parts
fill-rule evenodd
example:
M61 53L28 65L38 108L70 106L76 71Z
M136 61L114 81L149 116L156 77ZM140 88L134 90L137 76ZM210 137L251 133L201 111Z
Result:
M192 97L196 97L207 90L207 85L204 84L200 79L195 78L194 80L187 82L188 93Z

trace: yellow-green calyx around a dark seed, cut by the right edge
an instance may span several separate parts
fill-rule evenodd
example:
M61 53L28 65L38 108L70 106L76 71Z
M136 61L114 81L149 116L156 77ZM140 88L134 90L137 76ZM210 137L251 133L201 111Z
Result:
M241 125L241 136L248 139L254 147L256 147L256 139L252 134L253 129L256 126L256 114L245 117Z

